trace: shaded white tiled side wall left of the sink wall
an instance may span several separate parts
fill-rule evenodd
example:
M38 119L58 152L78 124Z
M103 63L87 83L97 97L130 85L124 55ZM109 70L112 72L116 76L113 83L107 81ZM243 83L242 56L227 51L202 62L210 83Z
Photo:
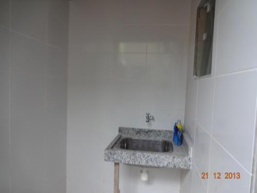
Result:
M66 191L68 2L0 1L0 192Z

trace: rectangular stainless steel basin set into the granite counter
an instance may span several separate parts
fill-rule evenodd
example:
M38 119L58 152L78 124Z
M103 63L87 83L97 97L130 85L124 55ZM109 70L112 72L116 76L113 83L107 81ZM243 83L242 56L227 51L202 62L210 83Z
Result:
M126 150L134 151L152 151L152 152L172 152L173 146L169 141L123 138L118 147Z

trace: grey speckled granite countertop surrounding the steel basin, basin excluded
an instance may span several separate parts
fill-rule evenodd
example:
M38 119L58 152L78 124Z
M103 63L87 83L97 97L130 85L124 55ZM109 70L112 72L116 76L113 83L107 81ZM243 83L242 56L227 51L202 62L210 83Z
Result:
M183 133L183 136L183 144L175 146L171 130L120 127L118 135L104 150L104 160L128 165L191 169L192 143L187 133ZM117 144L123 137L166 140L172 142L173 151L151 152L121 149Z

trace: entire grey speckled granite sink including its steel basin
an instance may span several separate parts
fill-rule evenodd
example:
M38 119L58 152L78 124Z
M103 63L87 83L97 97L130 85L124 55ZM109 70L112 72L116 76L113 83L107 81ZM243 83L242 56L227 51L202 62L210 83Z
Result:
M104 150L104 160L144 167L191 169L192 143L186 132L181 146L173 144L172 130L119 127Z

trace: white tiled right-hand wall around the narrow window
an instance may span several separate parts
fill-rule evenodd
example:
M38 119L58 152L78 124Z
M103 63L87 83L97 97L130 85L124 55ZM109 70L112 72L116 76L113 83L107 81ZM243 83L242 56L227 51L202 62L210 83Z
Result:
M193 0L191 7L185 113L194 160L193 170L181 174L181 193L247 193L256 117L257 2L216 0L212 75L194 79L199 2ZM209 172L208 182L201 181L201 172ZM222 172L223 179L214 180L213 172ZM241 172L241 179L224 180L225 172Z

